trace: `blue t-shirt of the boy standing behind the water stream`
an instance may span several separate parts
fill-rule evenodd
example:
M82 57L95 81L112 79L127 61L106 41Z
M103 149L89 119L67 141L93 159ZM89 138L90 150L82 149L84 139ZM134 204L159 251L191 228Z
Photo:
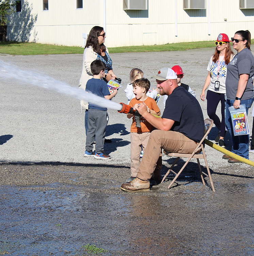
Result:
M92 78L87 81L85 91L88 91L92 94L98 95L103 98L104 96L110 95L107 83L103 80L95 79L95 78ZM107 108L103 108L95 104L90 104L89 101L88 101L88 109L98 109L102 111L107 111Z

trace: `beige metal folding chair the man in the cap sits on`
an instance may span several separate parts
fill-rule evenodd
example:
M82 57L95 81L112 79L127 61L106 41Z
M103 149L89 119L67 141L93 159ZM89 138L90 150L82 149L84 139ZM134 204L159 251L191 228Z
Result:
M191 158L196 158L197 159L197 163L199 165L199 171L201 174L201 179L202 179L202 183L205 186L205 180L204 180L204 176L203 174L205 174L207 177L209 177L210 183L211 183L211 187L212 187L212 191L215 192L214 186L213 186L213 182L212 182L212 177L210 174L210 169L208 167L208 163L206 160L206 154L205 154L205 150L204 150L204 146L203 146L203 141L205 140L206 136L208 135L208 133L210 132L212 125L213 125L213 120L207 118L204 120L205 122L205 135L203 137L203 139L200 141L199 144L197 144L195 150L192 152L192 154L181 154L181 153L171 153L168 151L163 150L164 154L166 154L167 156L175 156L177 157L176 160L174 161L173 165L170 167L170 169L168 170L168 172L164 175L161 183L166 179L166 177L169 175L170 172L173 172L176 176L174 177L173 181L170 183L170 185L168 186L168 188L170 188L172 186L172 184L176 181L177 177L181 174L182 170L184 170L184 168L186 167L187 163L190 161ZM201 150L201 151L200 151ZM196 152L200 152L199 154L196 154ZM186 157L188 158L188 160L185 162L184 166L181 168L181 170L176 173L172 170L172 168L174 167L174 165L176 164L176 162L179 160L180 157ZM199 159L203 158L205 160L206 163L206 169L207 169L207 173L204 173L201 170L201 166L200 166L200 162Z

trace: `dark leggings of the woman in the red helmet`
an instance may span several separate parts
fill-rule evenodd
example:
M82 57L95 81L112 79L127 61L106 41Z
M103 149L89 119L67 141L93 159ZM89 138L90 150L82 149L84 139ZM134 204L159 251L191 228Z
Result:
M225 94L215 93L214 91L207 91L207 114L221 132L221 137L225 136ZM217 106L221 102L221 121L216 115Z

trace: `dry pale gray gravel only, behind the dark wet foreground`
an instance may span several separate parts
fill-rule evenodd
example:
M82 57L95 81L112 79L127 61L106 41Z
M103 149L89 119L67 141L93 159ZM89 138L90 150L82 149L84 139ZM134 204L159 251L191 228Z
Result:
M160 67L180 65L185 72L182 81L196 93L204 117L206 102L200 100L201 90L206 78L206 67L213 49L196 49L185 52L123 53L111 54L115 73L122 79L124 88L114 98L115 102L127 103L124 89L129 82L129 72L133 67L141 68L144 76L156 87L151 78ZM199 57L197 59L197 56ZM82 55L44 55L9 56L0 55L8 63L25 70L34 70L52 76L54 79L77 87L82 69ZM75 162L101 163L103 160L85 158L84 112L81 114L79 100L45 90L32 85L20 85L16 82L1 83L1 160L4 162ZM163 98L159 107L163 111ZM220 108L218 108L220 110ZM109 124L107 138L111 144L105 144L105 152L110 154L111 164L129 164L131 120L125 114L108 110ZM220 111L218 111L218 115ZM250 111L251 112L251 111ZM249 113L250 126L252 126ZM214 127L208 139L217 135ZM227 148L231 141L225 138ZM213 167L234 168L221 158L222 153L206 147L208 162ZM167 159L167 157L163 157ZM254 160L254 154L250 154Z

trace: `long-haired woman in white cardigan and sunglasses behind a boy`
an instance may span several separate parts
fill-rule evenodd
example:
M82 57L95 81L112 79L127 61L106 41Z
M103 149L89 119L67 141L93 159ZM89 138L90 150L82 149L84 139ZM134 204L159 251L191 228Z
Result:
M81 77L79 80L79 86L85 90L86 83L89 79L93 78L93 74L90 68L91 63L98 59L103 61L107 69L105 70L105 79L109 81L110 79L115 79L117 76L114 74L112 69L112 60L109 57L109 51L104 45L106 38L106 33L102 27L95 26L89 32L88 38L86 40L84 54L83 54L83 68ZM80 101L82 107L85 108L85 133L88 128L88 102L83 100ZM111 142L110 140L105 140L105 142Z

